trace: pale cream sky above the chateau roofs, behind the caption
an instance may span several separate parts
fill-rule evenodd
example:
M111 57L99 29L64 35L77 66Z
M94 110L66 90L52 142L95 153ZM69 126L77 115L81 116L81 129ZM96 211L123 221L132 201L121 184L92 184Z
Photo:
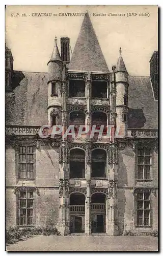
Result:
M153 51L158 50L156 6L7 6L6 44L12 50L14 70L47 72L55 36L59 50L60 37L68 36L73 51L84 17L59 16L59 13L86 11L108 68L111 70L117 63L121 47L129 75L148 76L149 60ZM52 13L52 16L37 17L33 13ZM108 16L109 13L125 15Z

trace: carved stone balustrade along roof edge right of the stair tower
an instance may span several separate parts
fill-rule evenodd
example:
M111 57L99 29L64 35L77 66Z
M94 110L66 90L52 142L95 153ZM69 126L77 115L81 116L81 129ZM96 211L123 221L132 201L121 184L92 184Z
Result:
M128 130L129 138L157 138L158 130L152 129L131 129Z

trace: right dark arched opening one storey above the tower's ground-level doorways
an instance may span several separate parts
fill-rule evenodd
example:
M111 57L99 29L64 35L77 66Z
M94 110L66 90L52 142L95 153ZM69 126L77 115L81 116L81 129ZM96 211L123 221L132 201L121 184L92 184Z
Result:
M92 178L106 178L106 152L98 148L92 151Z

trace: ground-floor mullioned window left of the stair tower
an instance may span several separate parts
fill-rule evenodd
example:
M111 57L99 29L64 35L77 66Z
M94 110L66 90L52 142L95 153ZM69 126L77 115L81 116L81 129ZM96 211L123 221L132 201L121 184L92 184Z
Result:
M35 226L35 191L30 188L21 188L17 195L17 225Z

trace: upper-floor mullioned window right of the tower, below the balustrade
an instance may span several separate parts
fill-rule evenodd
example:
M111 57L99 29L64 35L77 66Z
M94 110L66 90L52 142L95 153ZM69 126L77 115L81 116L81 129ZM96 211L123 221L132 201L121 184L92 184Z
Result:
M142 147L137 150L137 180L151 180L151 150Z

